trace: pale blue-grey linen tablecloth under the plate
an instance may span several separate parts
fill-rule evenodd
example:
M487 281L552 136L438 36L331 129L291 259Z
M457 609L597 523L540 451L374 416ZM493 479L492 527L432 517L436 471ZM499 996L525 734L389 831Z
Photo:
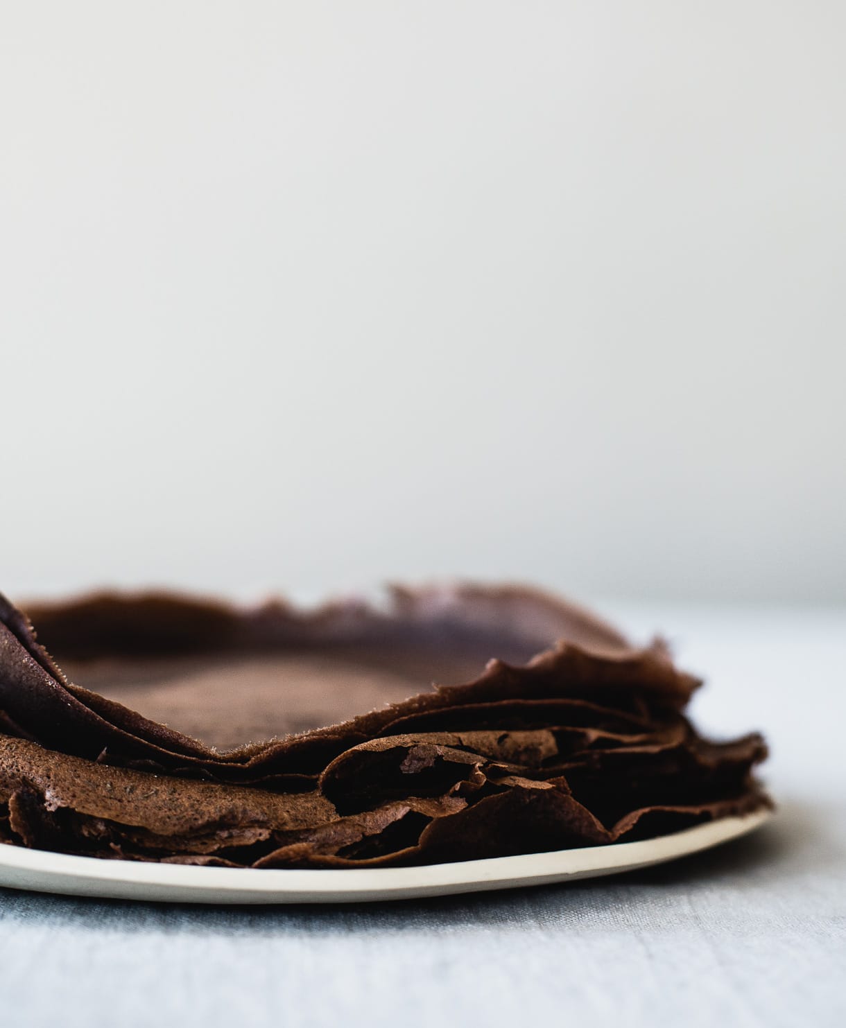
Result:
M627 876L337 908L197 908L0 889L3 1024L846 1025L846 611L606 604L763 729L758 835Z

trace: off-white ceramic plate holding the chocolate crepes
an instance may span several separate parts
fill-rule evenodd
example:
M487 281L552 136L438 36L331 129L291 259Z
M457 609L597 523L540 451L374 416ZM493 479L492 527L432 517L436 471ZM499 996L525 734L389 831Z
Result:
M697 853L759 828L771 816L760 811L725 817L685 832L615 846L526 853L489 860L422 868L352 868L288 871L192 868L67 856L0 845L0 885L38 892L163 900L172 903L291 904L368 903L548 885L614 875Z

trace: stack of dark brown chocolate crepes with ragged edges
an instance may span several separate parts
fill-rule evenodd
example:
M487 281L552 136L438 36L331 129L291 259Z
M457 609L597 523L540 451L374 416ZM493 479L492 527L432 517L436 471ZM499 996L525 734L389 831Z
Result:
M660 640L635 649L535 590L397 588L384 609L312 613L102 594L28 614L39 641L0 597L12 845L432 864L630 841L770 803L752 777L761 736L703 739L684 713L699 682Z

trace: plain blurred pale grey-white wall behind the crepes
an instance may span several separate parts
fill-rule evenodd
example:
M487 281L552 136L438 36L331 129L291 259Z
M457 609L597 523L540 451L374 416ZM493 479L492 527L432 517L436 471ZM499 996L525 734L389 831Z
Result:
M0 12L0 589L846 598L846 5Z

